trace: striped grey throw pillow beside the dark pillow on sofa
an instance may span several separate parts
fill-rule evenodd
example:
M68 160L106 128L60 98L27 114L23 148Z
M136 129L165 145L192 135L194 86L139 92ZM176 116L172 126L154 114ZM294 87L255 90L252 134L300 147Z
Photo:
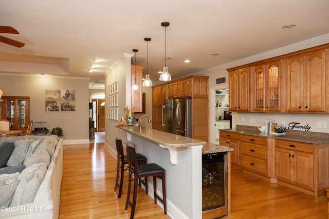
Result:
M19 140L14 142L14 150L11 153L11 156L9 157L9 160L7 162L8 167L14 167L20 164L23 164L23 161L26 156L27 149L29 147L29 140Z

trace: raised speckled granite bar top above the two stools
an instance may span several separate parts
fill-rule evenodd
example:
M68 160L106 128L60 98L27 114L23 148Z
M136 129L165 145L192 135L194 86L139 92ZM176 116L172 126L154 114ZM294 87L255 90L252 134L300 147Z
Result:
M194 138L180 136L168 132L158 131L155 129L140 127L140 126L119 126L115 127L129 132L134 135L138 135L141 138L145 138L149 141L155 142L157 144L163 145L167 148L170 147L193 147L205 145L206 142L196 140Z

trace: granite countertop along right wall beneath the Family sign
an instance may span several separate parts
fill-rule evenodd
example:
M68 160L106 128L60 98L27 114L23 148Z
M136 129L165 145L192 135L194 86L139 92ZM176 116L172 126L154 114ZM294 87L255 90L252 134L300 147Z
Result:
M277 138L288 141L309 143L309 144L329 144L329 133L322 132L310 132L310 131L296 131L286 129L285 135L271 135L265 134L258 130L257 127L253 126L236 126L235 129L220 129L220 131L228 131L239 134L246 134L251 136Z

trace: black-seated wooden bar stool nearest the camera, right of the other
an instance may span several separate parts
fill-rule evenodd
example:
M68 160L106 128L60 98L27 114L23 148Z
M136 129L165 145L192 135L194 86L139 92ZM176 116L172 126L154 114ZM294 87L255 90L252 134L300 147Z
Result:
M127 200L125 203L125 209L128 209L128 205L132 207L132 212L130 214L130 218L134 218L135 213L135 207L136 207L136 201L137 201L137 186L138 182L132 178L132 174L134 173L134 178L139 178L141 180L141 177L144 177L144 185L146 189L146 193L148 194L148 176L153 176L153 189L154 189L154 204L156 204L156 200L158 199L163 204L163 211L165 211L165 214L167 214L167 201L166 201L166 177L165 173L166 170L160 167L157 164L142 164L137 165L137 155L136 155L136 149L134 146L127 145L127 157L129 161L129 185L128 185L128 194L127 194ZM161 178L162 180L162 198L156 193L156 178ZM131 191L131 184L134 181L134 197L133 197L133 203L130 201L130 191Z

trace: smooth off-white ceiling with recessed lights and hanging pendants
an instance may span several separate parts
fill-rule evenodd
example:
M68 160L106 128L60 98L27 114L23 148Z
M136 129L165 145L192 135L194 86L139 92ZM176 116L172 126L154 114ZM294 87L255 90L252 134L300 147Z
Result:
M157 82L165 64L161 22L169 22L166 57L175 79L328 34L328 9L327 0L1 0L0 25L20 34L0 35L25 46L0 43L0 73L86 77L90 88L102 88L105 72L133 49L146 72L150 37L149 74ZM101 61L90 73L93 58Z

